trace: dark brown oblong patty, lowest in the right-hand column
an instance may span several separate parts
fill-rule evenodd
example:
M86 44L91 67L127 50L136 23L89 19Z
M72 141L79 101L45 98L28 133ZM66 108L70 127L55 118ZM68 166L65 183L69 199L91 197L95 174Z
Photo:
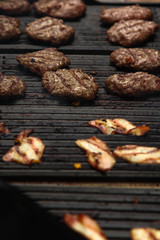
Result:
M160 78L147 72L114 74L106 79L105 84L110 92L122 97L160 92Z

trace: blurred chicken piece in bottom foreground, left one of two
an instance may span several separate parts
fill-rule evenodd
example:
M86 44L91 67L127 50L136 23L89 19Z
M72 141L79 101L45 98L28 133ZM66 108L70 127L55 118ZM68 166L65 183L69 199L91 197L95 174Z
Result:
M95 220L85 214L65 214L64 222L74 231L90 240L107 240L103 230Z

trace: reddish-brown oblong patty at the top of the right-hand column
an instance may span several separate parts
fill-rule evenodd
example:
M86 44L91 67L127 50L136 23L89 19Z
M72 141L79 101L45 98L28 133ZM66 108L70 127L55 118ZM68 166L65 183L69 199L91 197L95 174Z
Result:
M104 9L101 13L101 20L104 23L112 24L121 20L131 19L152 19L152 11L147 7L141 7L138 4L119 8Z

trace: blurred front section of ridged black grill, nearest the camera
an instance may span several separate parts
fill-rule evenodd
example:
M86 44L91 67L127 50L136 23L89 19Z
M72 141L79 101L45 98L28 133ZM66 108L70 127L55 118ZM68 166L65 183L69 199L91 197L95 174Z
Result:
M159 229L160 191L104 186L15 184L22 192L62 220L65 213L85 213L94 218L108 239L130 239L135 227Z

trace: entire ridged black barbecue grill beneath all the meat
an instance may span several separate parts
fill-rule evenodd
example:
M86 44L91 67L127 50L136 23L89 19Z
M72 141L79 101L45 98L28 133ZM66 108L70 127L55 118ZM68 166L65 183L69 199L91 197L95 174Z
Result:
M50 96L43 89L41 78L17 63L18 54L50 47L49 44L29 40L24 33L25 25L35 19L34 10L27 16L18 17L23 31L20 38L8 44L0 44L0 72L20 76L27 85L24 98L1 101L0 121L6 123L11 133L0 135L0 159L24 129L33 128L33 136L41 138L46 145L41 164L23 166L1 160L0 178L14 183L23 193L59 217L69 211L87 213L99 221L109 239L129 239L131 227L159 228L159 190L110 189L92 186L91 183L159 182L160 165L138 166L117 159L114 168L102 174L88 165L84 152L76 146L75 141L95 135L105 141L111 150L126 144L159 148L160 95L127 100L107 92L105 79L114 73L125 73L128 70L117 69L109 62L110 53L119 46L107 40L108 27L100 22L102 6L104 4L88 1L87 12L82 18L65 21L75 28L75 38L70 44L58 48L70 58L70 68L82 68L95 77L99 93L93 102L81 103L76 107L70 101ZM115 7L115 4L107 7ZM159 5L149 7L154 13L153 20L160 25ZM159 50L160 32L148 39L142 47ZM160 77L158 72L155 74ZM90 120L117 117L136 125L147 124L151 130L143 137L106 136L88 125ZM81 163L82 168L75 169L74 163ZM73 181L77 182L76 186L64 184ZM60 186L56 182L61 182ZM84 182L88 182L89 186L80 184Z

